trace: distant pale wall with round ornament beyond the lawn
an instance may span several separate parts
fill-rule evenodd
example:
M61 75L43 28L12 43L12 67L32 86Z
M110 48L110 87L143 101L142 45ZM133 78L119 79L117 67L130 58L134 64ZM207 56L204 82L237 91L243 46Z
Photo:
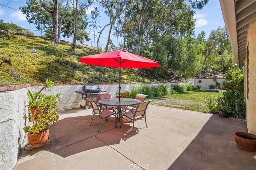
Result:
M201 80L202 82L199 83L198 82L199 80ZM224 80L225 80L224 78L217 79L217 82L220 83L220 89L224 89L224 86L223 86ZM203 89L209 89L210 84L215 85L215 83L216 83L216 82L214 82L214 79L212 79L212 78L190 78L188 82L194 86L201 85L203 87Z

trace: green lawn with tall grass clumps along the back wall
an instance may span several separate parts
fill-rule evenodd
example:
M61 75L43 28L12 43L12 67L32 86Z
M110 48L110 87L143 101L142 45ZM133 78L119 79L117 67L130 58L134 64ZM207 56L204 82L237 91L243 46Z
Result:
M137 94L148 95L146 100L153 99L152 104L178 109L207 112L208 107L204 104L203 99L218 98L219 92L200 91L202 86L192 86L191 84L167 84L160 85L142 85L133 88L130 92L130 98L135 98Z

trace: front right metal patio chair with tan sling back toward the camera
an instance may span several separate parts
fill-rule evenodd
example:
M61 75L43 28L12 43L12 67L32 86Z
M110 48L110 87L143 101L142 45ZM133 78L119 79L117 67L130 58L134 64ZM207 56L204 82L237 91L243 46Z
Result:
M153 102L153 100L147 101L147 102L140 102L140 104L138 104L135 110L130 110L128 112L123 112L122 116L121 116L121 125L120 128L122 127L122 117L126 116L128 119L131 119L132 124L133 124L133 130L134 130L134 134L136 134L135 129L134 129L134 121L139 120L139 119L145 119L145 123L146 123L146 128L148 128L147 125L147 121L146 121L146 110L148 109L148 104L150 102ZM137 118L138 117L138 118Z

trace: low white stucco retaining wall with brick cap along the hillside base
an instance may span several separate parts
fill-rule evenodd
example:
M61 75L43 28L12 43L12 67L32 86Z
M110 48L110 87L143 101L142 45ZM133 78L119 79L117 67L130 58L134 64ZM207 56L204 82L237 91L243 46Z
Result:
M172 86L177 83L169 83ZM182 84L182 83L178 83ZM102 90L106 90L116 96L119 84L98 84ZM121 92L131 91L133 87L141 84L121 84ZM158 84L147 84L158 85ZM82 90L83 85L55 85L42 93L57 94L60 93L59 105L56 109L67 109L80 107L80 94L76 90ZM42 86L11 85L0 86L0 169L12 169L17 162L22 141L25 136L23 127L26 126L24 116L28 115L28 97L27 89L37 92Z

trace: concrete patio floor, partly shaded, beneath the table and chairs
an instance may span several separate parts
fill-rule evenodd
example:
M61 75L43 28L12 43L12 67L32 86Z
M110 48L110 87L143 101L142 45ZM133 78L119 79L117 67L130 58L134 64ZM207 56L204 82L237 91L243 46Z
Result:
M28 154L23 149L14 169L255 169L256 152L246 152L233 133L247 131L240 119L150 105L145 121L104 121L92 109L59 110L50 127L52 145ZM23 146L27 144L24 140ZM204 152L204 155L199 154Z

